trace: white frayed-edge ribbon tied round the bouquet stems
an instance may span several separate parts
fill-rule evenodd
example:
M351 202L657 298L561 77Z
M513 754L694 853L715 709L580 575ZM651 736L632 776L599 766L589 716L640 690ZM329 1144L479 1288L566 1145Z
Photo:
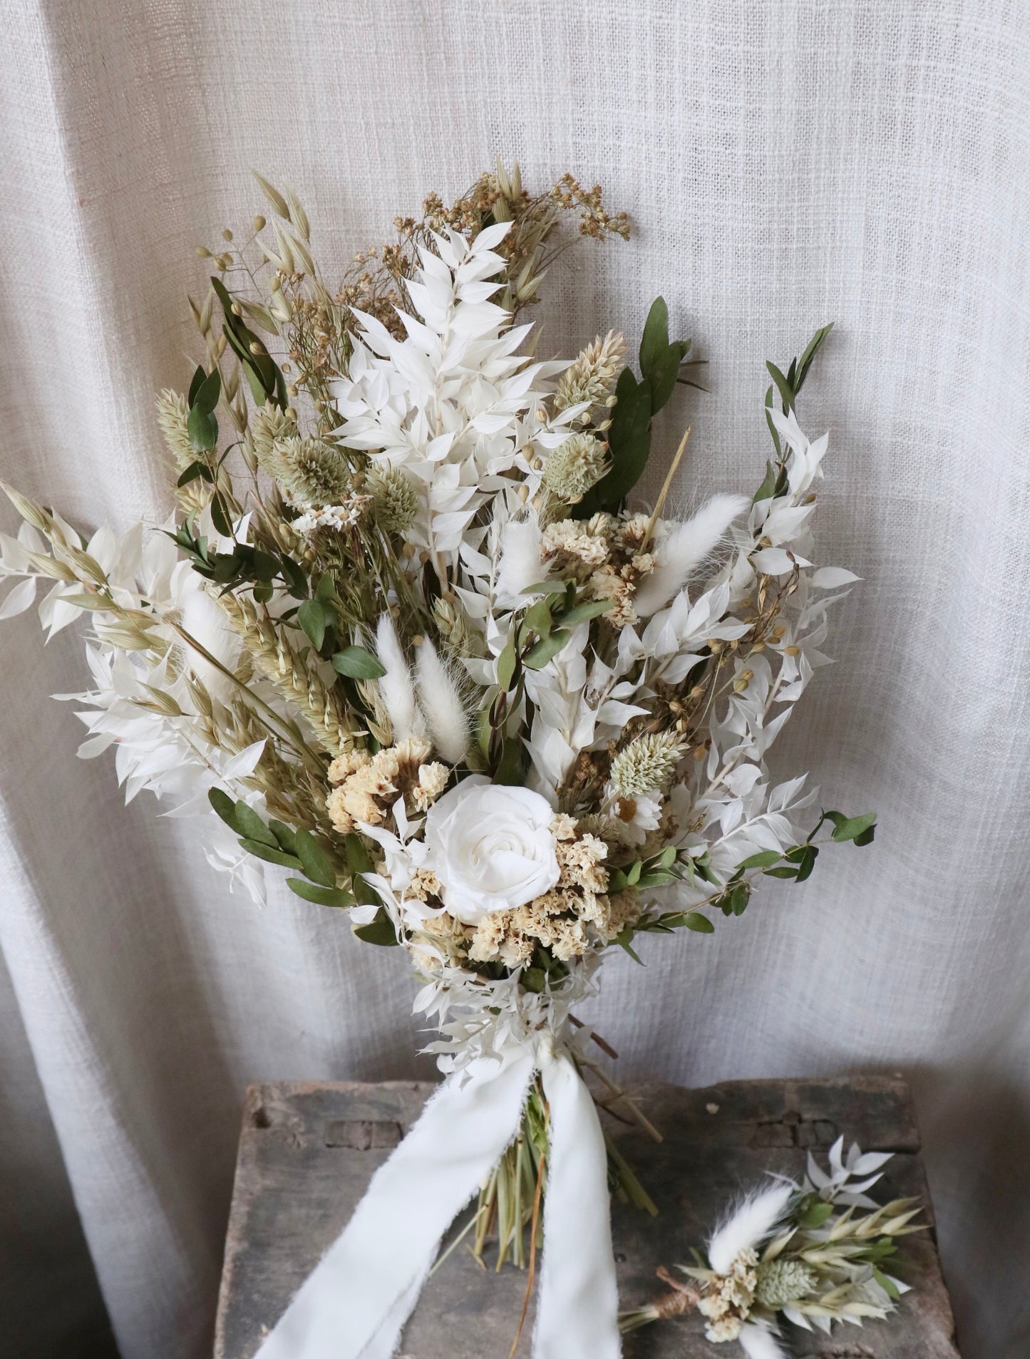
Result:
M391 1359L443 1234L518 1133L538 1070L550 1148L534 1359L618 1359L605 1139L590 1091L550 1038L444 1080L255 1359Z

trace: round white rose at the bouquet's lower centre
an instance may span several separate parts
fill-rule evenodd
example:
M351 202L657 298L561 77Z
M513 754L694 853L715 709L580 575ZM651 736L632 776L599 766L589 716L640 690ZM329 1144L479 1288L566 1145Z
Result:
M465 779L425 817L428 866L440 881L443 904L462 924L493 911L514 911L549 892L558 860L546 798L482 776Z

